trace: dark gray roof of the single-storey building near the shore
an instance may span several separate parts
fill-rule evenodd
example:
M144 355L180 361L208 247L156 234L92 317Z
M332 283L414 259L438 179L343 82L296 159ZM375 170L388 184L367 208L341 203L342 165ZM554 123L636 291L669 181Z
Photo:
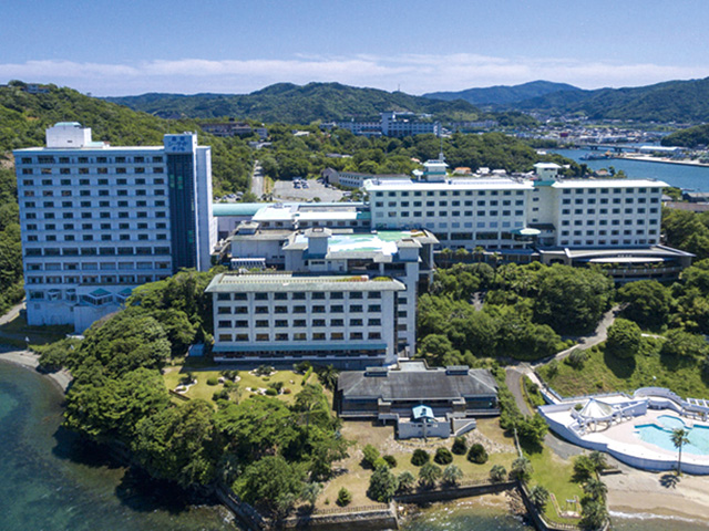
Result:
M417 363L417 362L409 362ZM407 365L405 362L402 365ZM470 369L467 373L418 366L391 368L387 376L368 371L340 374L338 389L345 399L381 398L397 400L454 400L469 396L496 395L497 385L490 371Z

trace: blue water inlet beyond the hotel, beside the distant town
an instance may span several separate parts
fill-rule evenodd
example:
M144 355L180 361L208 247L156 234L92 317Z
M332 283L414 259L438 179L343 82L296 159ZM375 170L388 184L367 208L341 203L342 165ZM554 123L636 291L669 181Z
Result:
M624 170L630 178L660 179L670 186L696 191L709 191L709 167L682 166L679 164L647 163L612 158L608 160L582 160L580 157L592 152L584 149L554 149L572 160L587 165L593 169L608 168Z

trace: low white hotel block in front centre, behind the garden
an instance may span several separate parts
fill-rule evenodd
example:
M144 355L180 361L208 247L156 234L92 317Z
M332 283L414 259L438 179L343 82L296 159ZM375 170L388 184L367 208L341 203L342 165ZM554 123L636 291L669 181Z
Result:
M214 278L215 361L343 368L397 362L394 295L404 287L367 275L236 274Z

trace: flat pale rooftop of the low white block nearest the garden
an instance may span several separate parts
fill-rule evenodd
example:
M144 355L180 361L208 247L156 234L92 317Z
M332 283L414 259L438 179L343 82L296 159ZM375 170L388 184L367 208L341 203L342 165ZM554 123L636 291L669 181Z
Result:
M366 274L220 273L205 291L209 293L296 292L296 291L404 291L405 287L388 277Z

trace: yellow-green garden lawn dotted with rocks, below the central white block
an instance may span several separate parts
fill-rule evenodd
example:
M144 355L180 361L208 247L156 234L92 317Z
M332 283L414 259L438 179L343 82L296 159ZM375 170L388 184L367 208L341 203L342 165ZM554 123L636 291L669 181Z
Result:
M189 387L189 391L185 393L185 396L189 398L203 398L205 400L210 400L214 393L222 391L224 385L207 385L207 379L217 378L218 381L220 371L220 368L216 369L213 366L206 367L204 364L194 363L192 361L185 365L168 366L164 372L165 385L168 389L174 389L179 385L179 381L185 376L185 374L187 374L187 372L192 372L196 376L197 383ZM290 404L292 403L295 395L302 389L302 375L296 374L292 371L278 371L273 376L255 376L249 374L247 371L239 371L239 377L242 378L238 382L239 399L245 399L253 395L253 393L246 391L247 387L267 388L270 383L282 382L284 389L290 389L290 394L280 394L277 398ZM317 375L311 375L309 382L317 383Z

